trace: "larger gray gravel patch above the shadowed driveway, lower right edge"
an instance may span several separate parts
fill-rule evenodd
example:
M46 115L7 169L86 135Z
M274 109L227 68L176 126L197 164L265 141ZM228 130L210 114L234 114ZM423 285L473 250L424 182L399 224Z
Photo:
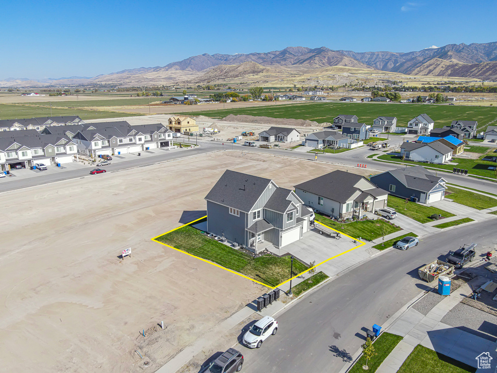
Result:
M441 322L492 342L497 340L497 316L467 304L458 303Z

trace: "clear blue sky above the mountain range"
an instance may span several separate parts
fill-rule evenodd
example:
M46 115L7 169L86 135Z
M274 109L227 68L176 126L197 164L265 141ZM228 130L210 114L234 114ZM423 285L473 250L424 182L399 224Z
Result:
M6 1L0 78L92 77L288 46L409 52L497 41L496 1Z

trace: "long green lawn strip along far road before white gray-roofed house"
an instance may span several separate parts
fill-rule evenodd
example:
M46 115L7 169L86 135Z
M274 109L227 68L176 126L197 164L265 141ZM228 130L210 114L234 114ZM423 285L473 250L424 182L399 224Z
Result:
M457 163L457 165L437 165L433 163L422 163L422 162L412 162L412 161L403 161L402 158L399 155L392 155L392 154L383 154L379 156L377 159L383 160L383 161L392 161L392 162L398 162L401 164L407 164L407 165L415 165L415 166L425 166L425 167L431 167L431 168L437 168L440 170L445 170L452 172L454 168L458 169L464 169L468 170L469 174L472 175L477 175L477 176L484 176L486 178L496 178L496 172L494 170L489 170L489 166L496 166L495 162L488 162L488 161L482 161L481 159L484 156L482 155L479 159L464 159L464 158L453 158L451 159L451 162Z

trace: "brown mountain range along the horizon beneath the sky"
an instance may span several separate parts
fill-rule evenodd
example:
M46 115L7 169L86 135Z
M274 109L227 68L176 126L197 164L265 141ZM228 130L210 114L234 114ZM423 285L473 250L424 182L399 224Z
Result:
M9 78L0 86L49 86L112 84L117 86L153 86L186 82L188 84L223 80L270 83L302 80L347 70L390 72L410 76L460 77L497 80L497 42L448 44L420 51L353 52L326 47L288 47L280 51L248 54L201 54L172 62L164 67L123 70L93 78L26 80ZM346 68L345 70L343 68ZM283 78L283 79L281 79Z

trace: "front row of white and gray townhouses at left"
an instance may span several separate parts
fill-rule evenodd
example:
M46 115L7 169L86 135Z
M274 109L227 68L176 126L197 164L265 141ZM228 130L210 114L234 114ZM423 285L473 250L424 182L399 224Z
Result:
M171 148L172 131L166 126L131 126L126 121L49 126L0 132L0 167L8 171L15 165L32 167L73 162L76 155L97 157L126 154L155 148Z

